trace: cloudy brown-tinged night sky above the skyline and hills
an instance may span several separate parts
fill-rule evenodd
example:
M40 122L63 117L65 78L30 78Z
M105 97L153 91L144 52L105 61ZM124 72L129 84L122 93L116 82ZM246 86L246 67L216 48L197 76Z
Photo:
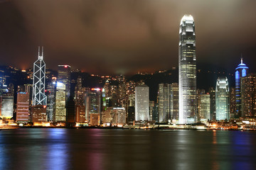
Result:
M94 74L154 72L178 66L184 14L196 24L198 64L255 71L255 0L0 0L0 65L33 66L38 45L46 67Z

